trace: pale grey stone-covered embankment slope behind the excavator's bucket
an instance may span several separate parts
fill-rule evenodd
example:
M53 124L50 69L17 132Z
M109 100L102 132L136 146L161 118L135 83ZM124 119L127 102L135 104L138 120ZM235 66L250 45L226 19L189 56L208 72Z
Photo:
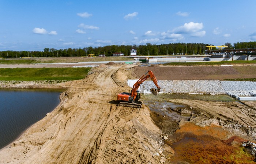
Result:
M203 93L227 94L231 91L237 95L250 96L256 93L256 82L251 81L219 81L219 80L158 80L162 93ZM150 93L149 89L155 88L153 81L142 84L142 93Z

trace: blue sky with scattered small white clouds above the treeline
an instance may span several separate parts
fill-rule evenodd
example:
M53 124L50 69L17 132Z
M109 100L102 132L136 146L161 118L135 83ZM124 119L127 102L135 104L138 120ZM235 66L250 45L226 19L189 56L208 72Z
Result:
M0 51L256 41L256 0L0 0Z

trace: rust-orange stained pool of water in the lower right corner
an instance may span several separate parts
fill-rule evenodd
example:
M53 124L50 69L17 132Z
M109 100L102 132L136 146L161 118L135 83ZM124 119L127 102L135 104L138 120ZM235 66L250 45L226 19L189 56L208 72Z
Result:
M254 163L251 155L240 147L240 137L233 136L220 126L199 127L192 123L181 126L172 136L168 145L175 151L169 162L172 163Z

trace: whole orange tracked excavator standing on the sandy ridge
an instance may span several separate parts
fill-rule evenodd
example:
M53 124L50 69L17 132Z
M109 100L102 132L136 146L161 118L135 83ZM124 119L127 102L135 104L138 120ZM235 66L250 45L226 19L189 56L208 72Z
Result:
M138 91L138 88L149 77L154 82L155 86L157 86L157 89L151 88L150 91L154 95L157 95L161 88L159 87L157 83L157 79L155 78L155 75L153 74L153 72L148 71L133 85L131 93L123 92L117 95L117 100L121 101L119 102L118 106L141 108L142 101L139 101L140 91Z

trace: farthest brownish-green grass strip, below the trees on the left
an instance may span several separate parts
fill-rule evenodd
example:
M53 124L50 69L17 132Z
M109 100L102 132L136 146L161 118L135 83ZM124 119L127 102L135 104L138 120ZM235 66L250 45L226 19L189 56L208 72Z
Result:
M77 63L77 62L102 62L102 61L122 61L133 60L133 58L123 57L59 57L59 58L9 58L0 59L0 64L38 64L38 63Z

